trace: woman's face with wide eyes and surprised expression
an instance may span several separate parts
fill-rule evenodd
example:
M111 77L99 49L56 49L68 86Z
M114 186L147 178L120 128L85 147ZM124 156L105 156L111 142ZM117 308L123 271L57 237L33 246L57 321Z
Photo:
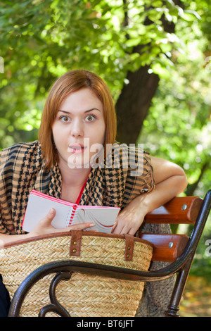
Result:
M105 140L103 104L89 88L72 92L62 102L52 132L60 163L89 168Z

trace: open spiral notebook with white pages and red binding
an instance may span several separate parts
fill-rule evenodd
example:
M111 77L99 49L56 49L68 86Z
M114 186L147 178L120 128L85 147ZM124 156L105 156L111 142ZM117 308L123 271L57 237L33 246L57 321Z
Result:
M47 194L32 190L29 196L22 227L26 232L31 232L39 220L44 218L53 207L56 216L51 225L56 229L68 227L79 223L95 223L94 227L86 230L96 230L110 233L115 223L120 208L106 206L80 206L68 201L54 198Z

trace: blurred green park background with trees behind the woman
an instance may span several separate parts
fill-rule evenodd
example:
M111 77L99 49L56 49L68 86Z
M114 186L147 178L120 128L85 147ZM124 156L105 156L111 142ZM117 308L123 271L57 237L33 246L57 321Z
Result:
M210 0L0 1L0 45L0 149L37 139L51 85L84 68L110 87L118 141L181 165L183 195L211 188ZM210 218L182 316L211 316L209 246Z

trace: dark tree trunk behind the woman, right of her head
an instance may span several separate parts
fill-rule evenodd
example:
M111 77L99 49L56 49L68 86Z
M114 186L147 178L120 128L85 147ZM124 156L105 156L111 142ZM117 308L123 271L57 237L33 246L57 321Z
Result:
M146 118L159 77L148 73L148 66L127 73L129 84L124 85L117 99L117 141L135 144Z

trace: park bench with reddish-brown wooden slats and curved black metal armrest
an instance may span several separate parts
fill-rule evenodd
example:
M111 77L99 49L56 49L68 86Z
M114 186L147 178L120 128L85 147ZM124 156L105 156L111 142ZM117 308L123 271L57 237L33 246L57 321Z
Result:
M56 273L57 280L50 288L51 303L58 305L60 316L69 316L68 313L59 306L55 289L62 273L75 272L91 275L101 275L103 277L114 277L124 280L140 280L144 282L155 282L163 280L174 274L177 275L170 304L165 313L166 316L179 316L179 304L184 292L186 280L191 269L193 257L196 253L200 237L203 233L206 220L211 208L211 190L207 192L204 199L198 196L176 197L155 211L149 213L145 223L169 223L169 224L189 224L193 225L191 236L176 234L150 234L140 233L139 237L153 243L153 261L169 262L168 266L160 270L139 271L125 268L103 266L95 263L85 263L82 261L55 261L41 266L34 270L18 287L13 296L11 308L8 316L18 316L21 305L27 292L37 280L49 273Z

